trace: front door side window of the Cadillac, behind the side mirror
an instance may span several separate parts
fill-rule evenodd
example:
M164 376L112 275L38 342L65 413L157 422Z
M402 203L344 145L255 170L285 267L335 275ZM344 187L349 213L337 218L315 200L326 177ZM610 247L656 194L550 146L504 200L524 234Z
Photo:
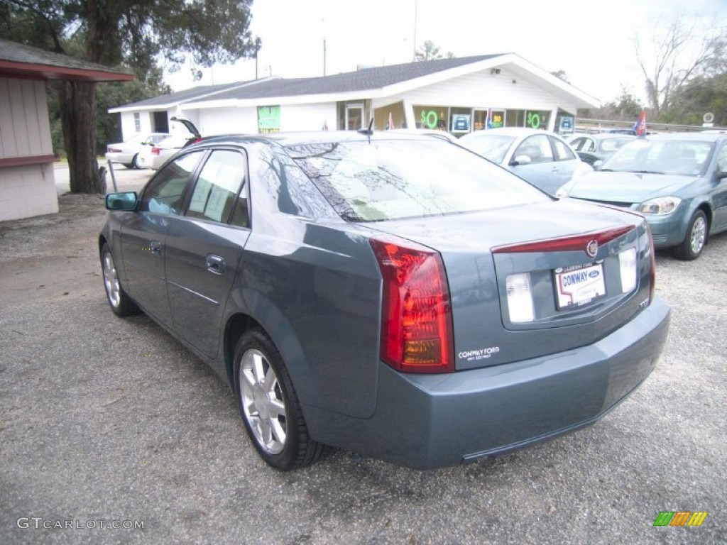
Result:
M185 186L203 154L204 151L187 153L158 171L142 194L139 210L181 214Z

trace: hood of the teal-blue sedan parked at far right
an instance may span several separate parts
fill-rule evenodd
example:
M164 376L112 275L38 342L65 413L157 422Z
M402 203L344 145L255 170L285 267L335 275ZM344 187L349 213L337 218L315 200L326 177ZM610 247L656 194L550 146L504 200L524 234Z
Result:
M592 201L639 203L658 195L673 195L694 182L692 176L595 171L566 185L569 197Z

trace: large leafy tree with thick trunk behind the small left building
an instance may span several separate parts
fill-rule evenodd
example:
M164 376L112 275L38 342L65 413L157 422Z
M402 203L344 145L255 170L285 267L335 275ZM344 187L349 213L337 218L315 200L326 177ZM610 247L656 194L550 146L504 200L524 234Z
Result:
M0 36L112 67L142 84L159 55L209 67L255 52L252 0L4 0ZM97 85L57 84L72 193L101 193L96 161Z

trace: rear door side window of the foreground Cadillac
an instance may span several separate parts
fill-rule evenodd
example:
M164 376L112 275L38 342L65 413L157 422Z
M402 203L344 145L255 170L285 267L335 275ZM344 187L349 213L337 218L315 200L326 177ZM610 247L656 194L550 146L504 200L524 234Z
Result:
M233 150L213 151L199 172L187 210L188 217L248 227L244 197L245 157ZM238 198L239 195L239 198Z

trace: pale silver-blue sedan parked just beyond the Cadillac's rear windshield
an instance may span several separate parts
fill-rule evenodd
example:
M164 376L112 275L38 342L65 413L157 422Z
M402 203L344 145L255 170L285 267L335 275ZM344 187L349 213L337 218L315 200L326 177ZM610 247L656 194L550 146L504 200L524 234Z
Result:
M572 178L593 171L557 134L523 127L500 127L465 134L459 144L504 166L555 195Z

